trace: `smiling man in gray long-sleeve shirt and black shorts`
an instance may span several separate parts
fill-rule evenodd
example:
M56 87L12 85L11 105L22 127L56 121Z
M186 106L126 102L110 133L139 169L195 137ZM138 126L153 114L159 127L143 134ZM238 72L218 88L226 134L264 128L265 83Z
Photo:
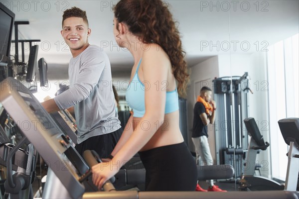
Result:
M116 112L111 66L101 48L88 43L91 29L86 12L77 7L63 13L61 35L72 53L69 63L70 89L42 102L48 112L74 107L78 129L75 148L109 157L122 128Z

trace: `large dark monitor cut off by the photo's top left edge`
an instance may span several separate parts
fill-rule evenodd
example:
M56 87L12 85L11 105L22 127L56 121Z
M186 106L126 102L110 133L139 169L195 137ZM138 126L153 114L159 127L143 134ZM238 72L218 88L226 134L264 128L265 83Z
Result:
M14 13L0 3L0 66L8 63Z

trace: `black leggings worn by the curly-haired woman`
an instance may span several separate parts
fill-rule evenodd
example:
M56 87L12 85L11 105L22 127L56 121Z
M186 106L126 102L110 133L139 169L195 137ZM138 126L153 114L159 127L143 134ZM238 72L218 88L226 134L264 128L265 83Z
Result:
M197 168L184 142L139 152L146 168L146 191L194 191Z

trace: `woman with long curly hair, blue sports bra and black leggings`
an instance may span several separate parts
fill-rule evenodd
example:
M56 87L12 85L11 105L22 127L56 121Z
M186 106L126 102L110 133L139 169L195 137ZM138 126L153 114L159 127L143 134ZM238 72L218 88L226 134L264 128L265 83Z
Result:
M92 167L93 182L101 188L139 152L146 191L194 191L196 164L180 132L178 112L187 65L172 15L161 0L120 0L114 16L115 39L135 61L126 93L134 113L111 160Z

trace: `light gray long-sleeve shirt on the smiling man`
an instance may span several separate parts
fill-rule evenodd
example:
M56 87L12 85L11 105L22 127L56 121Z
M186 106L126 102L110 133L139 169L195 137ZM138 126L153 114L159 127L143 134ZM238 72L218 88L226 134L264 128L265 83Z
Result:
M110 61L100 47L89 45L69 63L70 89L54 98L60 109L74 106L77 143L121 128L115 109Z

